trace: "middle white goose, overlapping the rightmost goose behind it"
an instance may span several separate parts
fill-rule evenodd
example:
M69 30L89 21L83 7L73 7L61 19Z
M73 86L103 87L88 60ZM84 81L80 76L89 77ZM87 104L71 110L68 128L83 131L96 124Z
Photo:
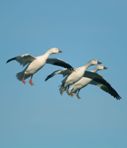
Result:
M49 76L47 76L47 78L45 80L48 80L49 78L53 77L56 74L63 74L64 76L66 76L63 79L62 84L59 89L60 94L63 94L63 92L65 90L68 90L70 85L77 82L78 80L80 80L83 77L83 75L88 67L90 67L92 65L96 65L96 64L101 64L101 62L96 59L93 59L93 60L90 60L87 64L85 64L81 67L78 67L78 68L55 71L52 74L50 74Z

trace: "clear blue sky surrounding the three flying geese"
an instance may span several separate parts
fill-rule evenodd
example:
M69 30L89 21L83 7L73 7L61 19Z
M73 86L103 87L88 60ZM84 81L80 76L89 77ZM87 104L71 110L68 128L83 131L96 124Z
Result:
M58 67L46 65L33 87L19 82L22 70L6 60L20 54L40 55L59 47L73 66L92 58L109 69L105 79L123 97L116 101L96 87L81 91L81 100L61 96ZM127 1L1 0L0 1L0 147L126 148L127 147Z

